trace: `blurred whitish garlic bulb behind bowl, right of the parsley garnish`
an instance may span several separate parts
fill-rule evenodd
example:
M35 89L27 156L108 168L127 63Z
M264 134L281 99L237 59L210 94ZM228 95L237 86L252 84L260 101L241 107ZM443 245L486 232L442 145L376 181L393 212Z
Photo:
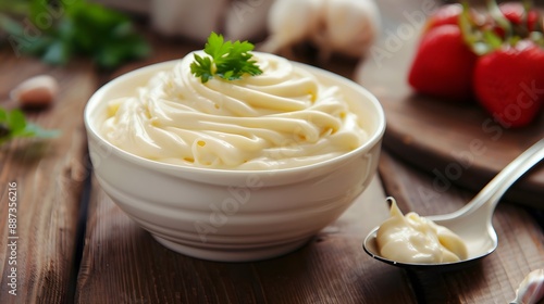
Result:
M311 41L322 60L332 53L363 56L380 27L374 0L276 0L268 17L270 37L259 50L288 51L296 43Z

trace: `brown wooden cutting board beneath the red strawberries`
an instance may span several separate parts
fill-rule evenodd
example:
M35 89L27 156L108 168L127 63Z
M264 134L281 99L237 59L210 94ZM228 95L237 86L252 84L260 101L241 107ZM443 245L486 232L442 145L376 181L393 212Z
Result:
M408 22L390 25L355 78L376 96L385 110L385 149L433 175L437 193L452 185L479 191L543 138L544 111L529 127L509 129L495 123L475 102L453 104L415 93L407 75L419 33ZM543 163L523 176L506 199L544 208Z

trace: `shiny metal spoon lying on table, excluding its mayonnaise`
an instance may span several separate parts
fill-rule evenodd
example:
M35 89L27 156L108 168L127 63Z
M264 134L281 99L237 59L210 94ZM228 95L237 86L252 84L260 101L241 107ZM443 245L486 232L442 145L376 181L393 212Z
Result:
M520 176L539 164L543 157L544 139L541 139L498 173L467 205L449 214L426 217L437 225L449 228L467 243L469 250L467 259L444 264L410 264L391 261L381 256L378 250L375 238L380 227L372 229L364 239L364 251L381 262L413 270L437 269L437 266L441 270L446 270L446 268L449 270L479 261L497 248L497 233L493 229L492 218L499 199Z

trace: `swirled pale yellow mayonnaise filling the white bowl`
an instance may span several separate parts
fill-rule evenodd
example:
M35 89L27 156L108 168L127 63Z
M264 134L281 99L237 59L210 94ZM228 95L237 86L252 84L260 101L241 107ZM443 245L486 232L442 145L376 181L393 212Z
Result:
M262 75L202 84L190 73L188 54L135 96L112 100L102 135L145 159L226 169L302 166L366 140L337 87L283 58L254 59Z

